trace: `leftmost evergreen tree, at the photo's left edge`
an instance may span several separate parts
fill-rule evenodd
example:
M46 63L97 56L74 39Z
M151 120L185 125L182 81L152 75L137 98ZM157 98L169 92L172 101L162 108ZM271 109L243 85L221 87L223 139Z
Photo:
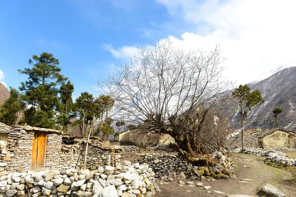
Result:
M0 122L6 125L17 125L18 113L24 108L25 103L20 98L19 92L10 87L10 97L0 107Z

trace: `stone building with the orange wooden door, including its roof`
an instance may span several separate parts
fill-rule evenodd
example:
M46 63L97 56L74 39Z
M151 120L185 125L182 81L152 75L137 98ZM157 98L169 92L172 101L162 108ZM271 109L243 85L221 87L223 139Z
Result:
M48 169L83 168L86 139L63 142L62 131L30 126L6 126L0 123L0 173ZM64 136L64 138L67 136ZM65 140L64 140L65 141ZM87 168L115 163L112 147L91 139L88 145Z

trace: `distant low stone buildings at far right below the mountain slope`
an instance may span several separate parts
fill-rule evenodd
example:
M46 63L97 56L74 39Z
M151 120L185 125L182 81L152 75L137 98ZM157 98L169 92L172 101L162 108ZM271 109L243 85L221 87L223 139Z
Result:
M226 140L226 149L241 147L241 134L238 138ZM250 129L244 131L245 148L296 148L296 133L282 129Z

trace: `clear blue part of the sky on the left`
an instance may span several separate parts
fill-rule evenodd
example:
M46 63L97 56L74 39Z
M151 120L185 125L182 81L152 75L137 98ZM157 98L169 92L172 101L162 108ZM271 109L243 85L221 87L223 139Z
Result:
M44 3L46 2L46 3ZM6 85L18 87L33 54L50 52L60 60L62 73L74 83L78 96L96 87L107 69L124 64L105 45L141 46L170 33L160 24L171 21L165 6L142 0L50 0L0 2L0 70ZM150 31L149 31L150 30Z

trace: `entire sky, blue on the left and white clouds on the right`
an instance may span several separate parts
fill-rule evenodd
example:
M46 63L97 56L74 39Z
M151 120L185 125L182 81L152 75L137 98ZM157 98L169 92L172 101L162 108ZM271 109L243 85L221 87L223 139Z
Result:
M248 83L279 64L296 66L294 7L293 0L2 0L0 82L17 88L27 79L17 69L50 52L74 97L98 96L89 87L107 69L128 62L137 47L171 39L185 50L219 45L225 77Z

